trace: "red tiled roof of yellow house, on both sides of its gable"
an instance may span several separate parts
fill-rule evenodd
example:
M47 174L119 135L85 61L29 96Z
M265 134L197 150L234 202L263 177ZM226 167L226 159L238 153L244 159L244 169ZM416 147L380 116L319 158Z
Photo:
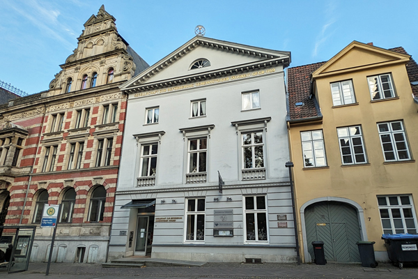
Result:
M403 47L394 47L389 50L409 55ZM288 120L302 120L320 116L320 112L316 109L315 97L309 98L311 96L311 74L325 63L326 61L288 68L288 116L290 118ZM406 65L406 70L410 82L418 82L418 64L412 57ZM411 88L415 98L418 98L418 85L411 84ZM300 102L303 102L304 105L302 107L295 107L295 103Z

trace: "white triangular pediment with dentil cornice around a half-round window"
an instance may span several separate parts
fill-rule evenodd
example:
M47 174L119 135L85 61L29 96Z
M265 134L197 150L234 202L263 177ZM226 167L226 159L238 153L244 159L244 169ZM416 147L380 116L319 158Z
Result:
M193 63L200 59L208 60L210 66L192 69ZM170 85L181 84L192 82L196 78L202 80L231 73L243 73L246 70L265 68L278 63L287 66L290 63L290 52L196 36L123 84L121 89L137 88L144 84L164 86L167 82L170 82Z

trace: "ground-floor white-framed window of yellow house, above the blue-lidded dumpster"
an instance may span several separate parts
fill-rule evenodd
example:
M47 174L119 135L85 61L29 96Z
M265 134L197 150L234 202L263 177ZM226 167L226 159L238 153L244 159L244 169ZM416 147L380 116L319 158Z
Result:
M378 196L384 234L417 234L417 216L411 195Z

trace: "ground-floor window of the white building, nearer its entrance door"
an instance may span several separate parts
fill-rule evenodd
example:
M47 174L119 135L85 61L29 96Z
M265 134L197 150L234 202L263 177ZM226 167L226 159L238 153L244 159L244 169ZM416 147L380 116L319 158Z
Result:
M187 199L186 241L205 240L205 199Z

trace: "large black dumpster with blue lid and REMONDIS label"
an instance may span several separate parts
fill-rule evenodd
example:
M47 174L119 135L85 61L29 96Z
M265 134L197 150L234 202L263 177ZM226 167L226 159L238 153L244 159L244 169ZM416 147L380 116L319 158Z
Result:
M383 234L387 255L392 264L403 268L403 263L418 263L418 234Z

